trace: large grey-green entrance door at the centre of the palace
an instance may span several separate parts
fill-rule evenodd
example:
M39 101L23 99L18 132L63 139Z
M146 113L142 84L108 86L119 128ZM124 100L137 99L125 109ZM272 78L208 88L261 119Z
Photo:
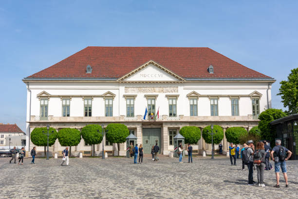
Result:
M161 152L161 128L143 128L143 148L145 154L151 153L152 145L159 146Z

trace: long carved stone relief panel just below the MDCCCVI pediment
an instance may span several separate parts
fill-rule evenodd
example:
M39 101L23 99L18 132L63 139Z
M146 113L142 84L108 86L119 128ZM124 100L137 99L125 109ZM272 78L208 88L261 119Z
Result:
M178 87L125 87L125 93L178 93Z

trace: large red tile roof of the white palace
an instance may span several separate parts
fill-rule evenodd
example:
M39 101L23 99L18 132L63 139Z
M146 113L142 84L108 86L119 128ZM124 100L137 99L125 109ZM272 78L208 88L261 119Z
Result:
M183 78L271 78L210 48L101 46L89 46L28 78L120 78L149 60ZM210 65L214 74L207 71Z

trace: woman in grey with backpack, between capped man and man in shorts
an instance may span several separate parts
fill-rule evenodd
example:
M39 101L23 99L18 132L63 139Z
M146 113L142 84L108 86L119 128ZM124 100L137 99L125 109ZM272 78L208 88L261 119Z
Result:
M257 176L258 176L259 187L265 187L265 184L264 184L265 156L266 156L266 152L264 150L264 143L259 141L257 142L257 147L254 152L254 163L257 166Z

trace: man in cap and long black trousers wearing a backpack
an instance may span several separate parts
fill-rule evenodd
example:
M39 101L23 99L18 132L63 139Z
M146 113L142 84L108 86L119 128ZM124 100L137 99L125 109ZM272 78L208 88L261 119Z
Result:
M244 161L245 164L247 164L248 167L248 185L254 185L257 184L256 181L254 181L254 151L255 151L255 145L253 140L247 141L247 147L244 148L242 151L242 161Z

